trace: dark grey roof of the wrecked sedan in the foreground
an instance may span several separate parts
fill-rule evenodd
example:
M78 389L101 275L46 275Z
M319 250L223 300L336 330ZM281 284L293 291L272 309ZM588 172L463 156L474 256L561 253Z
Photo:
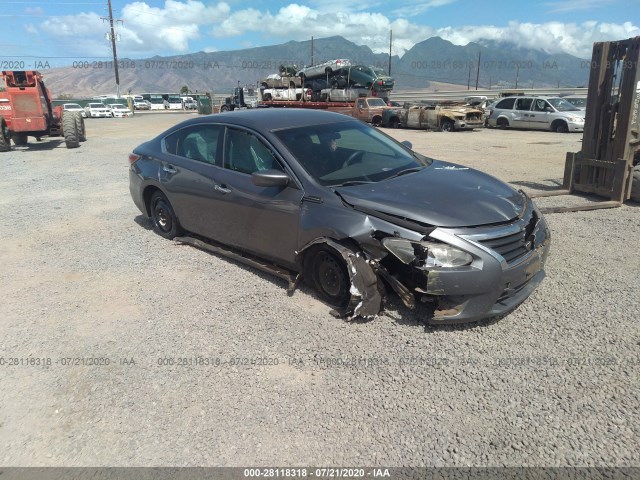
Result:
M308 125L357 121L340 113L307 108L255 108L222 114L217 113L208 115L205 118L211 123L224 122L241 127L271 131ZM187 120L185 123L202 123L202 118Z

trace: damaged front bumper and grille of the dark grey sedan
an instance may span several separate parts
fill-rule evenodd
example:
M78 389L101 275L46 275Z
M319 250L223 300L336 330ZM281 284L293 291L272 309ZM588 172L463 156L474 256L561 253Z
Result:
M421 284L416 291L436 303L431 323L472 322L506 314L545 276L551 235L546 221L533 208L508 225L438 228L429 236L474 258L471 265L455 269L416 267Z

